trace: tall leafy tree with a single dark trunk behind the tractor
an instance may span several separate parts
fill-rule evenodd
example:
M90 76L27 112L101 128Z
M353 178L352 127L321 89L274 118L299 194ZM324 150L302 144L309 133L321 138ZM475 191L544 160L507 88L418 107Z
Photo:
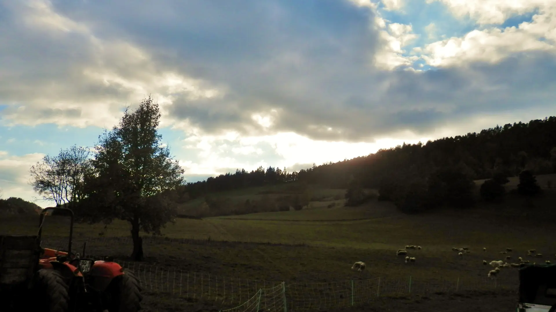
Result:
M161 229L174 222L177 190L185 184L184 170L161 144L160 117L158 104L149 96L135 111L127 107L120 123L99 135L80 211L90 223L129 222L131 256L137 261L143 259L140 230L161 235Z

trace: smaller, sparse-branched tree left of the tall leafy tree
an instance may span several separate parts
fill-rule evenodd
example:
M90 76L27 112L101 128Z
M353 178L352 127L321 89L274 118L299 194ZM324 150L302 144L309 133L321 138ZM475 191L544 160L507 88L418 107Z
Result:
M75 204L82 197L83 179L91 169L89 156L88 149L77 145L60 150L54 157L46 155L29 169L29 184L43 200Z

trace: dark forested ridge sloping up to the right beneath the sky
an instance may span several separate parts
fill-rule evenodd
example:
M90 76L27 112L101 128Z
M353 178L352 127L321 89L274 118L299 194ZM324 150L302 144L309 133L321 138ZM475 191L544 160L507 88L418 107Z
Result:
M337 163L313 165L299 172L269 167L236 170L203 182L187 183L191 198L245 187L302 182L329 188L347 188L355 180L365 188L380 188L408 176L428 177L439 168L456 168L471 179L489 179L495 173L515 177L528 169L534 174L556 168L556 117L484 129L419 144L403 144Z

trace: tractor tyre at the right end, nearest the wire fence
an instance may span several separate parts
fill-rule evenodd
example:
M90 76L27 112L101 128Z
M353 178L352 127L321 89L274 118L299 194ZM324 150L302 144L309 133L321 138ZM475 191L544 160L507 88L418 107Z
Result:
M124 270L123 275L116 276L106 289L110 297L108 311L137 312L141 310L141 286L130 270Z

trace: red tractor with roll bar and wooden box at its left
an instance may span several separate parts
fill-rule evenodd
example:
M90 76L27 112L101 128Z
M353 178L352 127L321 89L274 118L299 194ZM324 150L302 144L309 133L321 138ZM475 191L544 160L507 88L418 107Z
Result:
M71 217L67 250L41 248L42 225L48 210ZM43 312L137 312L141 309L141 288L135 275L113 262L110 256L102 261L86 258L86 244L82 255L72 253L72 236L73 212L58 207L42 210L36 236L0 236L0 297L12 299L4 301L0 310L26 307Z

